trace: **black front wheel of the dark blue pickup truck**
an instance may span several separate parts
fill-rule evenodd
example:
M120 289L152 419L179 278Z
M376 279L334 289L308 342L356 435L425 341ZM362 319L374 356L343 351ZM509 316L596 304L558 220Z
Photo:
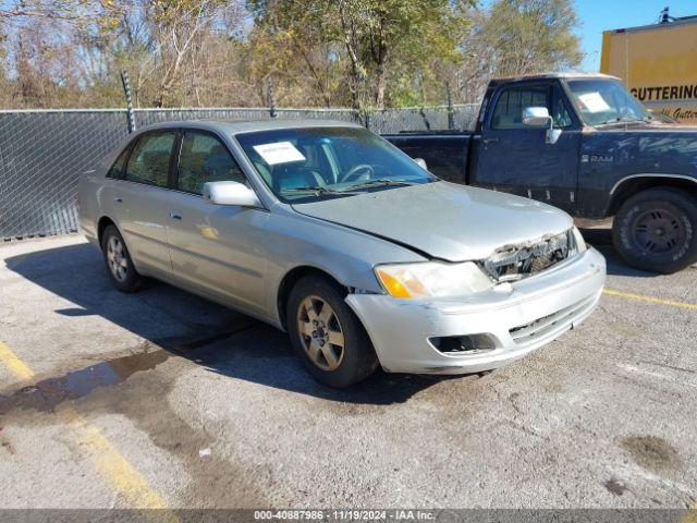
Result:
M650 188L628 198L614 217L620 255L643 270L670 275L697 262L697 199L675 188Z

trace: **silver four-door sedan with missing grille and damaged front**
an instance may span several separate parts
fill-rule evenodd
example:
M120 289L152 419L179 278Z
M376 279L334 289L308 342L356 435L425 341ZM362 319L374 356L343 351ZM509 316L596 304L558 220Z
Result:
M147 127L78 197L119 290L157 278L267 321L332 387L514 361L586 318L606 277L563 211L441 181L343 122Z

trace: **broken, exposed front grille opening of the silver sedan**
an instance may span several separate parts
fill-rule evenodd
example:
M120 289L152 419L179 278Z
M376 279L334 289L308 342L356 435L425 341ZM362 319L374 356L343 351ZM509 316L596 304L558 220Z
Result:
M515 281L547 270L574 252L573 233L567 231L533 244L502 247L480 265L497 281Z

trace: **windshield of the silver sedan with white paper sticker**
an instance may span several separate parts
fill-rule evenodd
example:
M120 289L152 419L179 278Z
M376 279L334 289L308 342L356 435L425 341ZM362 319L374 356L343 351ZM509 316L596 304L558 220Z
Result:
M283 129L235 138L284 202L346 197L438 180L365 129Z

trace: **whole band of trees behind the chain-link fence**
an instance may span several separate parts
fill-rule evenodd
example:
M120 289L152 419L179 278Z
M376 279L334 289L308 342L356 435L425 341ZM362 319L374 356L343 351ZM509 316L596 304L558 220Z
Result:
M479 101L580 63L572 0L0 0L2 107Z

